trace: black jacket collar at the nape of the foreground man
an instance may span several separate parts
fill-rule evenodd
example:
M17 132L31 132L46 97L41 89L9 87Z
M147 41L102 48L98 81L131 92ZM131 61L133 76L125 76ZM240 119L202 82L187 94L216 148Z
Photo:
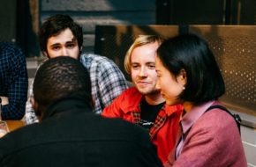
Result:
M58 113L78 112L73 109L83 109L83 112L92 112L92 107L87 103L85 98L79 96L66 97L56 100L47 107L42 116L42 120L52 117Z

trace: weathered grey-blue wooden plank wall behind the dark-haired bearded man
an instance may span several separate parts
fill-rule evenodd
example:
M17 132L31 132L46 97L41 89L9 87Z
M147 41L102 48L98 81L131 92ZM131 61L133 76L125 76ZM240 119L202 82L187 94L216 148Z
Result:
M69 14L84 29L84 51L94 52L95 25L155 24L155 0L41 0L41 23L56 13Z

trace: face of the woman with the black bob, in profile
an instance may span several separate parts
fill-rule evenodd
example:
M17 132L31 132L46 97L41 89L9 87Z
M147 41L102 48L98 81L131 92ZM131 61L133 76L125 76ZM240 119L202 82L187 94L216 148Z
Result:
M161 89L162 98L165 98L167 105L177 105L181 103L178 96L184 91L184 85L186 84L185 73L181 73L178 76L172 75L168 69L166 69L161 60L156 57L155 70L158 76L156 88Z

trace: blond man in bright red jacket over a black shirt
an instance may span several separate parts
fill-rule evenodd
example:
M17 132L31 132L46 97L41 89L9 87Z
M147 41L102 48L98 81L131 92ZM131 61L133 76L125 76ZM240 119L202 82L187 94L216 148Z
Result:
M173 149L181 105L165 105L160 91L155 89L155 51L162 42L157 35L140 35L127 51L124 67L132 76L135 87L125 90L102 115L122 118L147 129L162 163Z

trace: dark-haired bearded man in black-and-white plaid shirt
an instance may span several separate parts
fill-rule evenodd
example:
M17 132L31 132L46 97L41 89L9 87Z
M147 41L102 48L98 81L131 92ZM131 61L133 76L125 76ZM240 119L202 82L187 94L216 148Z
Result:
M92 82L94 97L94 113L102 113L128 85L123 73L115 62L96 54L82 54L83 30L68 15L56 14L46 19L39 32L41 51L49 59L57 56L71 56L79 59L88 69ZM26 102L26 124L38 121L34 114L30 99L33 97L32 87Z

